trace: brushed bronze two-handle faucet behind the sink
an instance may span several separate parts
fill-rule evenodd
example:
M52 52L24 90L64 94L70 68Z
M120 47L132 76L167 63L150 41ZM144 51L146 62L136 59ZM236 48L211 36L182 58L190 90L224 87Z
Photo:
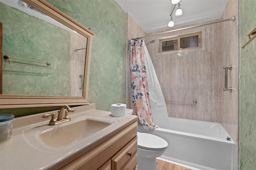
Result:
M66 109L65 111L65 115L64 114L64 109ZM58 111L58 117L57 119L55 118L55 113L47 113L44 114L42 116L42 118L47 118L49 116L52 116L52 119L50 120L48 125L58 125L60 123L64 123L64 122L68 122L71 121L70 117L68 116L68 112L74 112L74 109L71 109L68 105L64 105L60 108L60 110Z

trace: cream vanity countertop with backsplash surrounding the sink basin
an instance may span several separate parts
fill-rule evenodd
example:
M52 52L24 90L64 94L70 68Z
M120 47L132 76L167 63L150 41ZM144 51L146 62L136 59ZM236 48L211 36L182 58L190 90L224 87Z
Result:
M32 129L34 127L49 127L48 123L50 121L50 117L44 119L42 118L42 115L52 112L57 115L58 111L50 111L15 118L13 121L12 138L8 142L0 144L0 169L59 169L137 120L137 117L134 115L111 117L111 112L96 110L95 104L73 107L72 109L75 109L76 111L74 113L69 113L71 121L72 119L78 119L79 116L93 115L98 117L106 117L114 120L117 123L115 123L115 126L108 130L104 135L94 136L92 141L82 139L69 144L68 146L53 149L42 144L42 147L38 147L40 146L39 140L33 142L38 143L38 145L32 144L27 138L24 137L24 135L26 135L25 133L27 132L27 129Z

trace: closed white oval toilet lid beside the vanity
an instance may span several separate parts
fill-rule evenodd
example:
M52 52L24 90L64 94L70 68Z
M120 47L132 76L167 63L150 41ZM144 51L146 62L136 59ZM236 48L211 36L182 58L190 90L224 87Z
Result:
M163 150L167 148L168 143L153 134L138 132L138 147L147 150Z

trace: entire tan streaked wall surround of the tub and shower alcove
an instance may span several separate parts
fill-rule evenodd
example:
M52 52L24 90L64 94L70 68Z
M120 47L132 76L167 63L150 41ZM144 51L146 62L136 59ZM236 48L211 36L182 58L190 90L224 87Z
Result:
M156 40L155 43L149 43L147 49L150 53L165 99L177 101L196 100L198 102L196 105L190 103L166 102L168 116L221 123L235 142L237 142L238 1L229 0L220 20L232 16L236 16L235 22L227 21L190 30L171 32L144 38L144 41L147 43L151 40ZM129 14L127 20L128 39L172 30L169 29L146 34L138 24L136 25ZM218 20L194 25L202 25L214 21ZM137 29L134 29L134 27ZM195 29L198 30L200 28L205 29L205 37L203 37L206 41L205 51L156 55L156 53L158 53L158 38L189 34L189 31L194 32ZM176 30L178 28L174 29ZM136 30L138 31L136 32ZM232 71L228 70L228 86L234 88L232 93L223 91L223 66L230 64L233 65L233 69ZM128 104L130 101L129 97L128 95Z

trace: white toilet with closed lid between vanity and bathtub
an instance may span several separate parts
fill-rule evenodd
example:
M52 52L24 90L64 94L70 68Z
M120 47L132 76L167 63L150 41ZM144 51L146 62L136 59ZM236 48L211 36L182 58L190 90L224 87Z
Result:
M132 115L132 109L127 109L126 114ZM164 154L168 143L153 134L146 133L142 125L138 125L138 170L156 170L156 158ZM149 132L152 132L149 131Z

